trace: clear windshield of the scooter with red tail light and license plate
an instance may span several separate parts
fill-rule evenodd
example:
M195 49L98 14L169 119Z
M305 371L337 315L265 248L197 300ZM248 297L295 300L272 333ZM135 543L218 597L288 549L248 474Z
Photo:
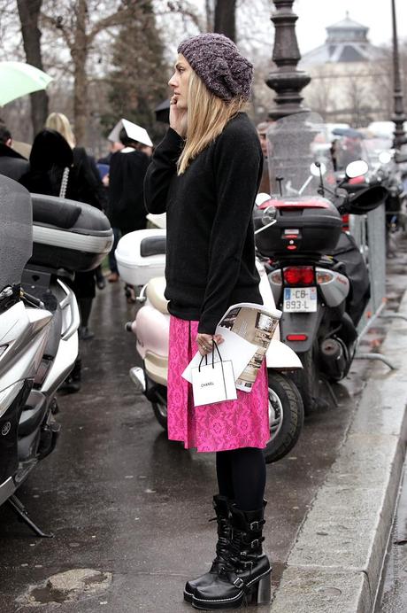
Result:
M324 184L334 189L331 144L318 113L296 113L272 123L267 131L267 151L273 198L316 196L321 182L318 163Z

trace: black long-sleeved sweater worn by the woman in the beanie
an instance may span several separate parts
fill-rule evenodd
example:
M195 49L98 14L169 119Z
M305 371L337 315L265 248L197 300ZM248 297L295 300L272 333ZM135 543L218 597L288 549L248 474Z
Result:
M251 218L263 156L245 113L230 120L179 176L182 146L169 128L147 171L144 198L150 213L167 213L169 312L199 320L198 331L213 334L227 307L263 302Z

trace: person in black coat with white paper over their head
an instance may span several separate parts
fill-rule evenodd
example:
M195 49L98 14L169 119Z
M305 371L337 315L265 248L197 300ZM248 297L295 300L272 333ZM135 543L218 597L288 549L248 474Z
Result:
M119 280L114 259L119 237L147 226L143 182L150 156L144 151L147 147L150 151L150 147L127 136L125 128L121 128L119 138L123 148L113 153L109 167L109 219L111 227L116 229L115 243L111 249L111 275L108 276L110 282ZM134 291L128 285L126 294L127 300L134 302Z

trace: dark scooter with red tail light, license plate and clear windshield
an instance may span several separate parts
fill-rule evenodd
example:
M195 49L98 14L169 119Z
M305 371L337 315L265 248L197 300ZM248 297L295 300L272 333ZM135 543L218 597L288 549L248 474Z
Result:
M280 333L302 361L293 379L305 414L319 407L321 383L342 380L357 346L357 323L370 297L365 260L342 213L365 214L382 205L387 190L378 185L349 194L336 185L323 122L316 113L298 113L276 121L268 132L273 198L257 207L258 252L267 270ZM365 175L355 161L347 178ZM274 221L273 224L270 221Z

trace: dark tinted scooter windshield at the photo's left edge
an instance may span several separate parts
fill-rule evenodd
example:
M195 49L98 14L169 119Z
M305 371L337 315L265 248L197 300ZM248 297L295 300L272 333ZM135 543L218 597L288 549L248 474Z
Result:
M33 250L29 192L18 182L0 175L0 293L19 285Z

